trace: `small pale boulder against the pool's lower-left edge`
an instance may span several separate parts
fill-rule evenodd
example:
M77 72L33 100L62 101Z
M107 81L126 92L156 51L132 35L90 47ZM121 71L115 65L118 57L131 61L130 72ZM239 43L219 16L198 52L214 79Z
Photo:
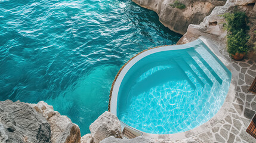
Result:
M122 138L122 129L118 117L108 111L101 114L101 116L90 125L90 131L95 143L109 136Z

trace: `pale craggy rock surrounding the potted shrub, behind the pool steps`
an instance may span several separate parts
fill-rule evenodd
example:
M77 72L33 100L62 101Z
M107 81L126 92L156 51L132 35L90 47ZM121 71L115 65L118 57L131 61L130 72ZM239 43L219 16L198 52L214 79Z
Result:
M226 4L221 7L215 7L212 13L204 18L201 24L190 24L187 32L177 44L188 43L199 38L199 36L205 36L206 38L219 41L226 45L227 32L223 28L223 24L226 23L221 16L225 13L232 13L234 10L244 11L249 18L249 35L251 39L249 44L256 42L256 0L227 0ZM252 60L256 60L255 52L248 54L248 57Z

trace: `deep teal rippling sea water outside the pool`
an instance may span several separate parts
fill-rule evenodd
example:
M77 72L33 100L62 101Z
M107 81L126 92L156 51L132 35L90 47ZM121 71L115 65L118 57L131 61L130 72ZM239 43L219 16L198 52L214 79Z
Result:
M120 67L180 37L130 0L0 0L0 100L43 100L84 135Z

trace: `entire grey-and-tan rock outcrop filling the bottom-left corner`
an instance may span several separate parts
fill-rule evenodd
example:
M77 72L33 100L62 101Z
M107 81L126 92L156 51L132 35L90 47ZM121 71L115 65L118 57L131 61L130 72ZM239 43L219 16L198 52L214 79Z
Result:
M0 101L0 142L79 143L78 125L44 101Z

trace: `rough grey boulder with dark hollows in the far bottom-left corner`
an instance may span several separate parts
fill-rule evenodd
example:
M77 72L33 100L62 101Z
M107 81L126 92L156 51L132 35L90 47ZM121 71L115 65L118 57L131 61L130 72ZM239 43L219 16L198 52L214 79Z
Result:
M51 142L51 126L24 102L0 101L0 142Z

